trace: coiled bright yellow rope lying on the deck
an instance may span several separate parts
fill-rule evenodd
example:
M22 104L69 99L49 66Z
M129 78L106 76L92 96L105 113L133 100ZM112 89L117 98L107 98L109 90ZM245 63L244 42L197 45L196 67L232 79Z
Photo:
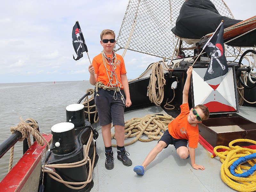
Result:
M233 164L239 157L250 155L256 153L256 150L249 148L242 148L240 146L233 146L234 143L237 142L250 142L256 145L256 141L249 139L237 139L231 141L228 146L216 146L213 151L214 153L220 157L221 165L221 179L231 188L241 191L241 192L252 192L256 190L256 174L251 175L246 178L236 177L232 175L229 171L230 165ZM217 152L217 149L226 149L226 151ZM249 160L248 163L253 166L256 163L256 159ZM249 170L249 166L239 165L235 172L243 173L242 169Z

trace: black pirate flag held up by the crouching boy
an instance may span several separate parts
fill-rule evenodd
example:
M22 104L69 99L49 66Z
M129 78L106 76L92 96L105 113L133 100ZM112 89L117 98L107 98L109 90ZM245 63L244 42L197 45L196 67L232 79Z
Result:
M212 36L212 39L204 45L204 51L210 57L210 63L204 75L204 81L214 79L228 73L228 65L225 57L224 40L223 40L224 27L221 26Z

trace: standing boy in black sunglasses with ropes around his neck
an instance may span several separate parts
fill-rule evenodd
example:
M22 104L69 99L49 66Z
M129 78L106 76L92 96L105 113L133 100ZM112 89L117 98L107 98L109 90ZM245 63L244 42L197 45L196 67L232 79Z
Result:
M132 105L124 59L113 49L116 44L113 30L104 29L100 34L103 51L95 56L89 66L90 83L95 85L94 101L98 110L102 138L105 145L105 167L114 168L111 147L111 123L115 127L117 159L125 166L132 165L130 154L124 148L124 107ZM124 94L126 98L124 98Z

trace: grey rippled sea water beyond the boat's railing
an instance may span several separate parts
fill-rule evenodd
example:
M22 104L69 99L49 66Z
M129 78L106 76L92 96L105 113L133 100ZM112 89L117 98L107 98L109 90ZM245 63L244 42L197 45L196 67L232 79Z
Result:
M93 87L89 81L0 84L0 143L11 135L10 127L20 122L19 117L33 118L41 133L51 133L54 124L66 122L66 107ZM22 142L17 142L12 167L22 152ZM9 159L10 150L0 159L0 181L8 173Z

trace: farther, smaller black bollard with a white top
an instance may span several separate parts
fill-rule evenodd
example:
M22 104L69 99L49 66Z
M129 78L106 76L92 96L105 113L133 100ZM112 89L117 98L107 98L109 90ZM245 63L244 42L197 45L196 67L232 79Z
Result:
M75 128L83 127L84 120L84 105L83 104L71 104L66 107L66 122L73 123Z

